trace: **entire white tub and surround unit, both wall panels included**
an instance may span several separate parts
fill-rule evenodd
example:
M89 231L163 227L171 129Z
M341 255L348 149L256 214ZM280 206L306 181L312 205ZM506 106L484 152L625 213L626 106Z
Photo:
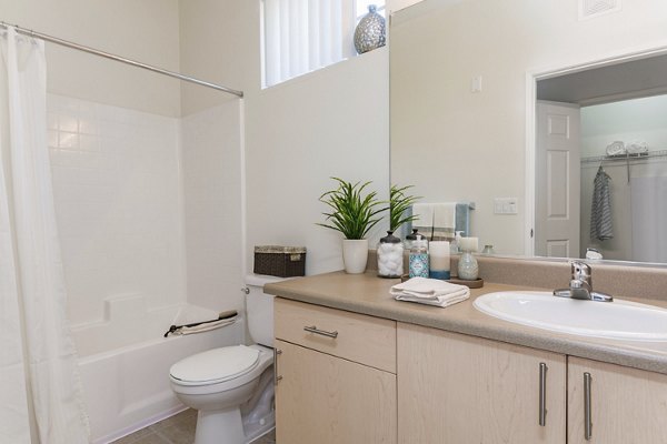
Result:
M161 342L172 324L243 309L238 121L236 102L176 119L48 94L68 312L94 442L183 408L165 376L173 362L243 343L243 329L182 349ZM201 341L189 336L176 343Z

